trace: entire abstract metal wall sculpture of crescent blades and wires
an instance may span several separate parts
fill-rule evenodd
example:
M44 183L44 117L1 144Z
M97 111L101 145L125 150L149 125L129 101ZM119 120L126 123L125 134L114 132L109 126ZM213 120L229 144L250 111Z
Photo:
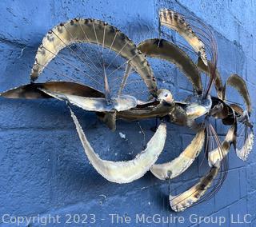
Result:
M161 38L164 35L162 27L177 32L190 47L177 46L170 40ZM80 61L84 67L77 66L76 62L71 62L66 56L63 57L60 53L64 49L74 54L76 61ZM93 56L95 57L96 52L98 58L95 60ZM191 53L198 55L198 62L192 60ZM194 94L184 102L177 102L170 90L158 88L157 79L154 78L147 58L158 58L177 66L191 82ZM62 74L59 69L54 70L50 67L54 59L74 69L77 74L85 76L91 85L78 82L73 74ZM160 10L159 38L147 39L138 46L106 22L75 18L55 26L43 38L31 70L30 84L7 90L1 96L26 99L56 98L66 102L91 165L102 177L115 183L135 181L147 171L160 180L169 181L186 171L205 149L210 171L185 192L176 196L170 194L170 207L179 212L206 201L218 192L226 178L227 155L231 145L234 145L237 156L243 161L246 161L253 148L254 133L250 123L252 107L246 82L237 74L231 74L226 82L222 83L217 61L217 44L210 28L196 18L188 18L173 10ZM45 70L50 70L59 77L69 78L69 81L38 82ZM113 78L114 74L118 76ZM138 78L135 78L135 74ZM208 78L206 87L202 85L203 74ZM138 86L141 82L148 93L146 100L138 98L143 91L138 95L130 94L130 86L141 89L142 86ZM216 97L211 95L212 86L216 90ZM245 102L245 109L227 101L227 86L232 86L238 91ZM95 112L111 130L116 129L118 119L138 121L157 118L161 123L156 127L154 136L146 147L133 160L107 161L98 157L90 145L78 118L71 110L73 105ZM224 141L219 139L210 118L220 119L224 125L230 126ZM165 145L167 122L187 126L193 129L196 135L190 145L174 160L155 164ZM242 135L238 134L240 128ZM211 185L214 186L210 188Z

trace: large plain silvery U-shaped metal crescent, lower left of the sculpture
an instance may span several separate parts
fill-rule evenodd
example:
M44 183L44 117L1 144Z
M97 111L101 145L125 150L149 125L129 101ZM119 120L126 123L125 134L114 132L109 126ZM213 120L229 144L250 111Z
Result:
M82 130L81 125L78 122L78 118L70 110L71 117L78 131L78 135L85 149L86 156L90 163L94 166L94 169L98 173L105 177L106 180L115 183L129 183L142 177L154 162L157 161L159 154L162 152L166 141L166 124L158 126L154 136L146 145L146 149L139 153L133 160L130 161L106 161L98 157L98 154L94 152L89 141L86 138L85 133Z

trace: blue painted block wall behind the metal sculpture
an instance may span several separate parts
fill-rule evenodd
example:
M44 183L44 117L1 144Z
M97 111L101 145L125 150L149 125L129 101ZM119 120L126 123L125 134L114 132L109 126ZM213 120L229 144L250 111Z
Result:
M231 73L242 75L255 103L256 3L251 0L3 0L0 2L0 91L29 82L38 45L44 34L59 22L75 17L99 18L118 26L138 43L157 36L158 9L161 6L193 14L211 26L218 41L218 68L222 78ZM178 39L178 35L172 35L174 40ZM174 97L182 99L190 94L190 84L180 77L178 71L171 68L170 74L172 78L167 81L167 86ZM162 84L161 80L159 84ZM234 90L229 90L228 98L241 102ZM126 141L119 137L118 132L110 135L93 114L77 112L101 157L124 160L134 157L139 151L142 135L138 125L118 122L118 132L126 133L129 138ZM255 121L255 106L252 120ZM147 138L152 124L152 121L142 122ZM221 135L226 133L226 128L218 123L216 127ZM177 156L193 138L193 133L174 125L169 126L168 134L161 161ZM114 142L115 150L107 149ZM202 158L200 156L186 173L171 181L171 187L188 187L202 176L206 171L206 165L199 166ZM239 226L256 226L255 149L246 163L239 161L232 149L230 171L218 194L204 204L177 214L172 213L168 206L168 182L159 181L150 173L127 185L116 185L102 178L89 164L70 113L62 102L0 99L0 161L0 217L9 214L12 221L18 216L39 215L42 225L43 218L50 214L54 217L60 215L62 224L50 223L47 226L63 226L68 218L66 214L88 214L87 221L90 221L91 213L96 215L95 226L115 226L117 224L111 224L109 214L116 213L121 217L131 217L129 226L134 226L134 216L145 213L148 216L159 214L185 218L186 224L171 226L197 226L198 223L193 224L189 219L195 214L224 216L227 220L222 226L234 226L230 224L231 214L237 217L240 213L243 217L249 213L252 223ZM5 217L0 220L0 226L16 226L3 223L11 221L10 217ZM85 216L80 217L85 219ZM40 226L34 222L29 226ZM22 223L20 226L26 225ZM69 226L83 225L73 223Z

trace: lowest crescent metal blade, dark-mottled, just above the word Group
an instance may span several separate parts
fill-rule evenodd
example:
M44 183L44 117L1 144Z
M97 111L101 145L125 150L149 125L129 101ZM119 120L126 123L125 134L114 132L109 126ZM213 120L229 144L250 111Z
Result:
M212 185L214 178L218 175L220 169L219 162L213 166L206 176L202 177L200 181L190 189L186 190L177 196L169 196L170 207L175 212L181 212L194 205L206 193L206 190Z

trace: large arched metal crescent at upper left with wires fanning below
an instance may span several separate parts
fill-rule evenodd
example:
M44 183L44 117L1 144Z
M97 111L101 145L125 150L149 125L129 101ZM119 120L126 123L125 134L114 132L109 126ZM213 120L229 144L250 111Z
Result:
M95 19L75 18L55 26L42 39L35 57L30 78L34 82L47 64L66 46L74 43L94 43L115 51L129 61L140 74L151 94L157 90L154 74L144 55L134 42L114 26Z

